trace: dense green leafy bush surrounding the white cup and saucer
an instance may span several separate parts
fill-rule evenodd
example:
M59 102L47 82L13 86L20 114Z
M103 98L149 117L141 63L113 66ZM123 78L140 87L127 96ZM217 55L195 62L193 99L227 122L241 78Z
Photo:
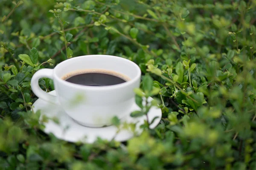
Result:
M0 0L0 169L256 167L256 1ZM30 80L87 54L136 62L162 120L128 142L42 132ZM54 89L43 79L44 90ZM143 110L133 116L146 114Z

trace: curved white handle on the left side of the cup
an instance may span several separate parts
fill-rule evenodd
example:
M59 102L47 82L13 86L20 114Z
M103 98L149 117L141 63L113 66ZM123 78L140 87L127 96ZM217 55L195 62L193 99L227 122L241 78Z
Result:
M40 86L38 84L38 80L43 78L43 77L53 79L53 69L43 68L43 69L38 70L37 72L35 72L35 74L33 75L32 79L31 79L31 84L30 84L31 88L32 88L32 91L40 99L43 99L46 102L50 102L50 103L59 105L59 102L58 102L58 99L57 99L56 96L48 94L47 92L43 91L40 88Z

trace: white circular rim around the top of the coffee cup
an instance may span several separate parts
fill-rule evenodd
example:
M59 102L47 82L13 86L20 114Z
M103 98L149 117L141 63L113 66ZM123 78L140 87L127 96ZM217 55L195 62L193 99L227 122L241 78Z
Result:
M61 79L60 77L58 77L56 75L56 73L55 73L55 70L57 70L60 67L60 65L66 63L66 62L70 62L71 60L82 58L82 57L102 57L102 56L123 60L125 62L129 62L130 64L134 65L135 68L136 68L136 72L137 72L136 77L134 77L133 79L131 79L131 80L127 81L127 82L123 82L123 83L117 84L117 85L89 86L89 85L79 85L79 84L67 82L67 81ZM55 79L57 79L59 82L63 83L64 85L70 86L70 87L72 86L73 88L75 87L75 88L79 88L79 89L88 89L88 90L102 91L102 90L110 90L110 89L117 89L117 88L125 88L125 87L127 87L129 85L134 84L134 82L137 82L137 80L140 79L140 77L141 77L141 70L140 70L140 67L135 62L132 62L129 59L125 59L125 58L117 57L117 56L112 56L112 55L96 54L96 55L84 55L84 56L78 56L78 57L73 57L73 58L70 58L70 59L66 59L63 62L60 62L58 65L55 66L55 68L53 69L53 75L54 75Z

